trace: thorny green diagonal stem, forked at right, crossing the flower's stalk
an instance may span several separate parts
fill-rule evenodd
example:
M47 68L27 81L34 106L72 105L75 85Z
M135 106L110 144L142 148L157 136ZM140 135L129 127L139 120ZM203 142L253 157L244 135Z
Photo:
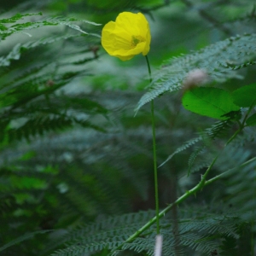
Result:
M235 171L236 169L239 169L241 167L247 166L248 164L252 163L254 160L256 160L256 157L253 157L251 160L247 160L246 162L244 162L243 164L241 164L241 166L236 166L234 168L229 169L226 172L223 172L215 177L212 177L209 180L206 180L207 178L207 174L210 172L210 170L212 169L212 166L214 165L215 161L217 160L218 157L215 157L214 160L212 160L212 164L211 166L208 167L207 172L205 172L205 174L201 177L201 181L200 183L198 183L193 189L190 189L189 191L187 191L185 194L183 194L182 196L180 196L177 201L174 201L171 205L169 205L168 207L166 207L163 211L161 211L159 213L159 218L163 217L166 215L167 212L169 212L172 207L180 204L181 202L183 202L186 198L188 198L190 195L195 195L196 192L200 191L202 188L204 188L205 186L215 182L216 180L218 180L221 177L224 177L227 173ZM140 236L145 230L148 230L148 228L150 226L152 226L155 222L156 222L157 218L156 216L154 218L151 218L147 224L144 224L142 228L140 228L139 230L137 230L133 235L131 235L126 241L124 241L122 244L119 245L119 247L114 248L113 250L119 250L125 243L127 242L131 242L133 241L135 238L137 238L137 236Z

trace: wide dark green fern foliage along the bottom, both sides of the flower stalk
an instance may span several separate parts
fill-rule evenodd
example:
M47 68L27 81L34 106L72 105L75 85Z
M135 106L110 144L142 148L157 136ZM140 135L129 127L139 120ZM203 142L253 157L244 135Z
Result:
M120 218L107 218L102 221L97 220L96 224L81 227L79 230L67 234L66 238L65 236L61 237L60 241L69 244L69 246L51 255L80 255L81 252L93 253L104 247L108 249L119 247L132 234L131 232L142 224L142 213L144 216L147 214L140 212L124 215ZM188 218L191 213L192 215ZM164 237L162 255L177 255L175 253L184 255L183 249L185 247L190 247L201 253L210 253L220 245L222 237L239 238L237 224L242 223L243 220L238 217L237 212L221 215L215 215L211 212L207 216L204 215L204 217L200 217L201 213L199 213L199 216L196 216L195 212L189 210L186 212L187 218L179 219L178 249L175 248L177 247L176 238L172 234L172 218L161 219L161 234ZM192 216L193 218L191 218ZM124 221L123 223L120 223L121 219ZM121 250L132 250L137 253L147 252L148 255L153 255L155 235L155 229L152 227L131 243L124 243Z

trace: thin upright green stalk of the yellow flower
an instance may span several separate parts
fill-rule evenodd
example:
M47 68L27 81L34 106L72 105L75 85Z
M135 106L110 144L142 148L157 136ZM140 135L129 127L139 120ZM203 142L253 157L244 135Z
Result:
M148 65L149 82L152 83L151 68L146 55ZM151 120L152 120L152 138L153 138L153 156L154 156L154 197L155 197L155 216L156 216L156 233L160 234L159 224L159 198L158 198L158 178L157 178L157 165L156 165L156 146L155 146L155 125L154 125L154 100L151 101Z

